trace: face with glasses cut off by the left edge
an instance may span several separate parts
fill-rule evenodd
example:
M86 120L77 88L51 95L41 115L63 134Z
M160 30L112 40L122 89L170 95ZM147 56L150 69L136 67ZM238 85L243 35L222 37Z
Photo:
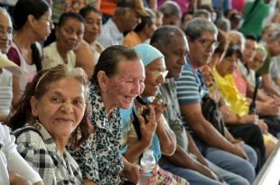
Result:
M13 39L13 26L7 14L0 14L0 50L7 53Z

